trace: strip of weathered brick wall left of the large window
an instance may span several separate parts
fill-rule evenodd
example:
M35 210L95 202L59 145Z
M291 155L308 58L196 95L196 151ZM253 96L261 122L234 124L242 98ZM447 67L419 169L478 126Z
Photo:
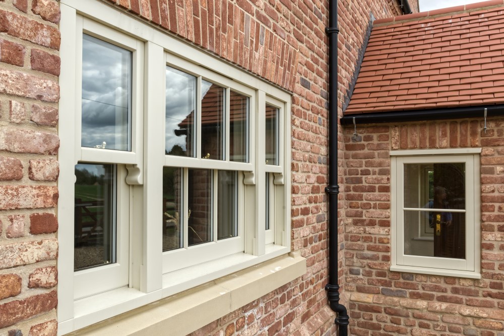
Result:
M59 16L0 2L0 334L57 328Z

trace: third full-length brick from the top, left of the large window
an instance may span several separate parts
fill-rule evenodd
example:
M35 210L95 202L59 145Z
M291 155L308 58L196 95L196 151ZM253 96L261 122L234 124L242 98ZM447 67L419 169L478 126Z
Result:
M59 138L54 133L28 129L0 129L0 151L55 155Z

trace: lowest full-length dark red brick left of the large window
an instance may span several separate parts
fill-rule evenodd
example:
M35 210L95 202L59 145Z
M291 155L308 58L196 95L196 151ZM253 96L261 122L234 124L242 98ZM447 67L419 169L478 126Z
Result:
M40 313L48 312L57 305L56 291L11 301L0 305L0 328L16 324Z

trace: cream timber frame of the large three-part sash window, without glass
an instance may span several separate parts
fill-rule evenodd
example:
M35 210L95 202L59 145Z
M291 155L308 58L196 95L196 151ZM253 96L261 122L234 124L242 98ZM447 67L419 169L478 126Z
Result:
M126 225L123 230L128 231L129 234L128 243L123 244L128 246L129 250L127 253L121 253L121 255L129 256L128 282L127 286L117 289L74 300L74 289L80 286L73 270L74 230L72 225L59 227L58 279L61 286L58 289L58 333L75 331L195 286L212 283L213 280L238 271L246 272L249 267L265 261L270 262L271 265L275 263L289 265L290 270L295 268L296 271L290 274L288 279L285 278L286 282L302 275L299 272L305 269L304 266L301 267L304 259L296 255L289 256L291 251L290 179L284 178L290 176L290 164L285 164L290 162L290 151L283 147L290 144L290 113L287 111L290 111L291 95L219 57L168 35L137 18L124 15L123 12L101 1L61 0L60 9L62 43L59 109L65 113L60 114L58 129L61 139L58 219L62 223L73 222L75 164L77 162L113 162L118 164L118 167L124 168L120 174L125 175L129 194L122 195L121 193L121 202L128 201L130 206L121 207L128 208L129 218L129 226ZM84 28L84 24L81 26L80 21L88 22L87 25L92 28ZM112 155L109 154L112 151L106 149L83 149L80 146L80 132L76 132L80 130L81 122L79 72L82 65L79 62L78 50L80 50L83 31L89 32L90 35L96 34L98 38L101 36L101 39L107 42L121 47L134 47L136 50L137 58L134 65L136 68L133 75L137 77L132 88L134 111L132 112L131 152L114 151ZM128 41L121 42L121 37L117 36L125 36L125 40L134 42L136 46ZM165 83L167 64L176 65L175 67L182 71L194 71L201 78L225 87L227 93L232 90L250 99L249 162L230 162L228 161L229 152L226 153L226 160L223 161L176 157L177 160L183 159L176 163L176 166L182 165L183 169L213 169L214 174L216 170L239 172L238 182L243 185L239 188L241 191L238 196L238 202L243 204L243 211L240 211L238 215L242 228L241 231L238 229L239 238L235 239L240 241L239 251L226 253L218 259L205 263L193 266L184 264L186 266L184 268L168 267L164 270L165 254L174 254L162 252L162 235L160 234L162 169L163 166L173 166L171 161L173 157L164 155L165 93L164 85L160 83ZM264 104L267 101L269 104L277 104L283 111L279 120L280 164L271 167L265 167L264 146L262 149L259 146L262 137L257 136L258 120L262 120L261 115L264 117ZM227 104L229 106L229 98L227 98ZM228 119L226 118L226 129L229 129ZM226 142L229 143L228 131L226 131ZM152 153L160 154L151 155ZM272 221L275 233L274 241L269 243L265 239L264 227L266 205L264 197L261 196L265 192L266 169L274 173L275 185L275 215ZM224 239L223 242L225 240L228 239ZM206 244L195 246L194 250L197 249L196 247L203 249L204 245ZM218 244L214 243L214 245ZM190 256L183 256L183 258L189 259ZM287 260L289 261L284 262ZM253 272L250 273L249 279L268 278L269 273ZM279 287L285 283L279 284L278 280L275 280L271 285L277 284ZM263 293L261 295L268 293L264 292L265 290L272 290L264 286L257 287L254 282L246 282L243 286L251 286L246 288L254 293ZM233 297L236 298L236 296ZM247 298L253 297L251 292L247 295ZM227 310L235 304L233 300L239 301L232 297L228 299L230 304L225 305ZM228 313L225 310L219 311L223 312L222 315Z

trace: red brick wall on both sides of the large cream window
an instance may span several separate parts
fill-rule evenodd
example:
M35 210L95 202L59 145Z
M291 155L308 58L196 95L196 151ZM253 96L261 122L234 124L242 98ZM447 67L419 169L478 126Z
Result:
M308 271L196 334L334 332L334 313L326 304L324 290L328 2L103 2L293 92L291 238L292 249L306 257ZM340 1L339 100L354 76L370 12L378 19L401 14L396 0ZM0 320L6 321L0 333L19 329L28 334L33 328L36 334L46 328L53 334L55 329L58 21L55 0L0 0L0 276L6 277L0 284L8 284L5 289L0 286L4 295ZM344 204L340 206L342 216ZM340 257L342 266L343 254Z

